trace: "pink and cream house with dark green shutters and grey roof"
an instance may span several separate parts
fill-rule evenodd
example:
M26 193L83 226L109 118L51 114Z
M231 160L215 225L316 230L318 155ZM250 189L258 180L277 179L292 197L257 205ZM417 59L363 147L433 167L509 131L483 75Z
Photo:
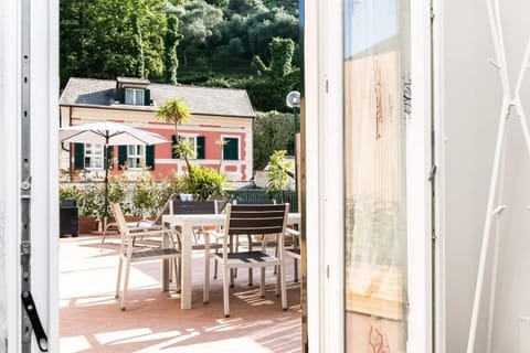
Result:
M156 117L168 99L180 98L191 116L178 126L181 141L194 150L194 164L218 169L233 182L253 178L253 135L255 117L243 89L153 84L148 79L118 77L116 81L70 78L60 98L61 126L113 121L159 133L168 143L114 146L109 148L112 173L135 176L148 169L157 180L186 172L183 159L173 151L176 127ZM62 170L74 179L81 171L103 175L102 145L61 146Z

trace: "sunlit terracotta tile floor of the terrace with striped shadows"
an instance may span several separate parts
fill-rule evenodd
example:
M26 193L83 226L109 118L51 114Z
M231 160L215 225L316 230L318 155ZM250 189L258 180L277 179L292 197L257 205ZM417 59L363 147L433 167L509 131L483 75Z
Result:
M135 264L127 310L114 298L117 238L99 236L60 240L61 352L301 352L299 285L287 270L288 303L282 310L267 270L267 290L259 298L240 271L231 296L231 317L223 315L222 279L211 281L210 303L202 303L202 254L193 255L193 301L180 309L174 290L160 290L160 261ZM213 270L213 268L212 268Z

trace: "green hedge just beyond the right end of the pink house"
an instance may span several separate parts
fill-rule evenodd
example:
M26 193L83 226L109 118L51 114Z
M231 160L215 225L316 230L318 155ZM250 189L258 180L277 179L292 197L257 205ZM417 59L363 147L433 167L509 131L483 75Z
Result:
M254 170L263 170L276 150L293 156L295 122L293 114L257 113L254 120Z

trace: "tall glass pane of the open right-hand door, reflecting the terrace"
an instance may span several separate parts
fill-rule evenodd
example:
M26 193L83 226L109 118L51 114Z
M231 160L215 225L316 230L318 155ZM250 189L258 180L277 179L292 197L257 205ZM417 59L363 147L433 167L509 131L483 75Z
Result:
M344 0L346 347L405 352L409 0Z

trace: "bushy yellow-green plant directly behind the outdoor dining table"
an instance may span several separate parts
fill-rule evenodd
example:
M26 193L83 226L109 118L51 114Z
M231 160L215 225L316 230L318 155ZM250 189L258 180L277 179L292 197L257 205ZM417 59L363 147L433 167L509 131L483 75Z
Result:
M189 174L178 178L179 190L193 194L195 200L206 200L210 195L224 194L226 176L215 169L191 164Z

